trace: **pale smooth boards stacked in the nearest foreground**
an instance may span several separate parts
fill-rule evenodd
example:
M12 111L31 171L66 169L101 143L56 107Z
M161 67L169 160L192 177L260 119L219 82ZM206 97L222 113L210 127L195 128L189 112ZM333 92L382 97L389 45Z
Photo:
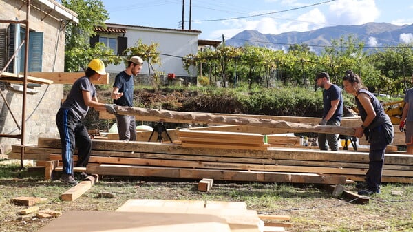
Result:
M284 220L290 219L283 215L271 216ZM259 232L285 231L283 225L290 226L282 222L279 225L266 226L256 211L246 209L245 202L131 199L114 212L63 213L39 232Z

